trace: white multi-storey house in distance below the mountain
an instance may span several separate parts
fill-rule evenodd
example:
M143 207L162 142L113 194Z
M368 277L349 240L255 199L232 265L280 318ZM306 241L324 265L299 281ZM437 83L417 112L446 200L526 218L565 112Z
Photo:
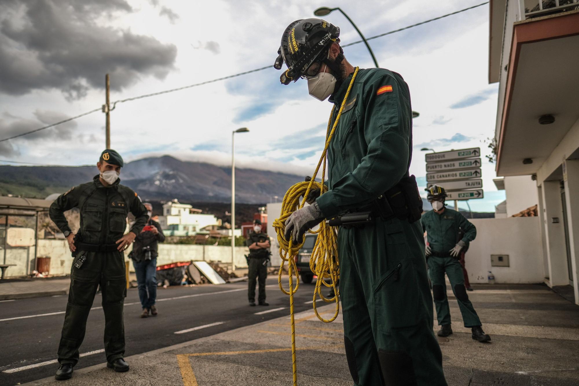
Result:
M163 231L170 230L168 235L191 236L209 225L221 227L221 219L213 214L203 214L200 209L179 203L175 198L163 205L163 216L159 216L159 224Z

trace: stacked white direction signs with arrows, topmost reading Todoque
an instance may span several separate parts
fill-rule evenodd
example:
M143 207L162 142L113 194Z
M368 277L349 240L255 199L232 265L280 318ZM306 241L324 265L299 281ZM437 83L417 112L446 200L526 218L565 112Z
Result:
M481 165L479 147L426 154L427 188L443 187L458 210L459 201L484 198Z

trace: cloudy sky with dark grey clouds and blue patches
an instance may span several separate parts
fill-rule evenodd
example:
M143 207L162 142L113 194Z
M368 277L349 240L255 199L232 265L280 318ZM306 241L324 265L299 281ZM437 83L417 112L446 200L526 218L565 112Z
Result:
M273 64L285 27L340 6L366 37L477 5L482 0L287 2L170 0L2 0L0 4L0 139L27 132L111 100L178 88ZM359 40L338 12L343 44ZM426 185L424 153L481 147L492 137L498 84L489 85L488 5L370 41L381 67L409 85L414 119L411 172ZM363 44L345 48L353 65L373 67ZM240 167L304 174L323 149L331 105L303 81L283 86L273 68L178 92L127 101L111 112L111 144L127 161L170 154L228 165L231 132ZM102 112L0 142L0 163L96 162L105 146ZM483 162L485 196L472 210L504 200ZM466 205L461 205L463 207Z

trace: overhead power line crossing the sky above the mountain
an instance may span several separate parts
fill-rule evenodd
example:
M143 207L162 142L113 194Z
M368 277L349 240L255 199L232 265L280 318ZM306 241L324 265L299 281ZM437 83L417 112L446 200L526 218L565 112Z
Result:
M442 16L434 17L434 19L428 19L428 20L421 21L420 23L412 24L411 26L406 26L406 27L398 28L397 30L393 30L393 31L389 31L389 32L384 32L383 34L369 37L369 38L367 38L366 40L368 41L368 40L372 40L372 39L377 39L377 38L384 37L384 36L386 36L386 35L394 34L395 32L400 32L400 31L408 30L409 28L413 28L413 27L417 27L417 26L422 26L423 24L430 23L431 21L444 19L445 17L452 16L452 15L457 14L457 13L465 12L465 11L467 11L467 10L474 9L474 8L477 8L477 7L479 7L479 6L482 6L482 5L485 5L485 4L488 4L488 3L489 3L489 2L487 1L487 2L483 2L483 3L477 4L477 5L473 5L473 6L471 6L471 7L464 8L464 9L460 9L460 10L457 10L457 11L455 11L455 12L451 12L451 13L444 14L444 15L442 15ZM346 44L346 45L343 45L342 47L349 47L349 46L353 46L353 45L355 45L355 44L362 43L362 42L363 42L362 40L359 40L359 41L355 41L355 42L351 42L351 43L348 43L348 44ZM182 86L182 87L178 87L178 88L175 88L175 89L163 90L163 91L159 91L159 92L155 92L155 93L150 93L150 94L143 94L143 95L139 95L139 96L135 96L135 97L131 97L131 98L126 98L126 99L119 99L119 100L113 102L113 107L111 108L111 111L116 107L116 104L117 104L117 103L129 102L129 101L132 101L132 100L143 99L143 98L148 98L148 97L157 96L157 95L161 95L161 94L172 93L172 92L175 92L175 91L190 89L190 88L197 87L197 86L203 86L203 85L207 85L207 84L209 84L209 83L215 83L215 82L219 82L219 81L225 81L226 79L241 77L241 75L252 74L253 72L258 72L258 71L267 70L267 68L272 68L272 67L273 67L273 65L266 65L265 67L255 68L254 70L249 70L249 71L244 71L244 72L239 72L239 73L237 73L237 74L228 75L227 77L222 77L222 78L217 78L217 79L211 79L210 81L205 81L205 82L201 82L201 83L194 83L194 84L188 85L188 86ZM101 108L96 108L96 109L94 109L94 110L87 111L87 112L85 112L85 113L83 113L83 114L73 116L72 118L65 119L64 121L52 123L52 125L44 126L44 127L42 127L42 128L39 128L39 129L31 130L30 132L21 133L21 134L18 134L18 135L16 135L16 136L13 136L13 137L9 137L9 138L2 139L2 140L0 140L0 142L8 141L8 140L11 140L11 139L14 139L14 138L18 138L18 137L22 137L22 136L25 136L25 135L28 135L28 134L36 133L36 132L39 132L39 131L44 130L44 129L52 128L53 126L57 126L57 125L60 125L61 123L65 123L65 122L72 121L73 119L77 119L77 118L80 118L81 116L89 115L89 114L92 114L93 112L97 112L97 111L100 111L100 110L101 110Z

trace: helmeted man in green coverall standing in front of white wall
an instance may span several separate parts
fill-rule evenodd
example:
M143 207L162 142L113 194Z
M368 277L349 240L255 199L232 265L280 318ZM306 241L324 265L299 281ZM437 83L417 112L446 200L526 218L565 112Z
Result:
M444 188L433 185L428 189L428 202L433 210L422 216L422 229L428 234L426 257L428 275L433 285L434 304L438 325L441 329L438 336L452 334L450 327L450 308L446 297L446 282L444 274L448 275L452 292L459 302L460 313L463 315L464 327L471 327L472 338L479 342L488 342L490 336L481 327L481 319L468 300L464 287L463 268L460 265L460 252L477 236L477 228L456 210L445 207L446 192ZM461 235L461 237L459 236Z

